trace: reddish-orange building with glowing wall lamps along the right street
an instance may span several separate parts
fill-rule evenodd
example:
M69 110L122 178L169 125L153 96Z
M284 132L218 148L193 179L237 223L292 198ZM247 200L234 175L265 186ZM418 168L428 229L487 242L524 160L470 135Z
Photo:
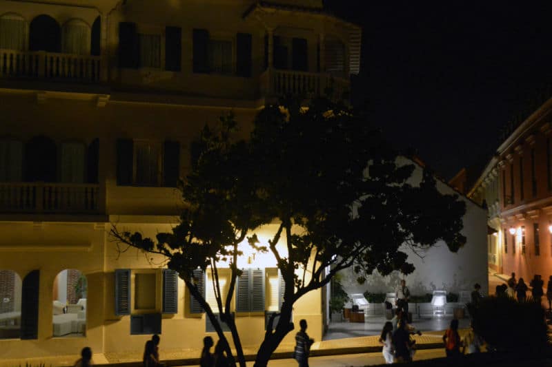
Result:
M489 267L552 275L552 98L513 127L468 191L488 210Z

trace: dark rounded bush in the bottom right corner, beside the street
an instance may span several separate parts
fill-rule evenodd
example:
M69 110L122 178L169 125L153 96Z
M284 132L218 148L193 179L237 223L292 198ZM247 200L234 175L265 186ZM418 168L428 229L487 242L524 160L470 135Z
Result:
M485 297L477 308L470 305L475 332L491 350L542 352L549 348L544 308L529 299L517 302L511 297Z

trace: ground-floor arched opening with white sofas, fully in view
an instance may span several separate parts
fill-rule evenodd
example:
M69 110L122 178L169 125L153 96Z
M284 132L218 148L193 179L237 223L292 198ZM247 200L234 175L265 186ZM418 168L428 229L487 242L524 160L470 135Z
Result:
M77 269L60 271L52 293L52 324L55 337L86 334L86 276Z

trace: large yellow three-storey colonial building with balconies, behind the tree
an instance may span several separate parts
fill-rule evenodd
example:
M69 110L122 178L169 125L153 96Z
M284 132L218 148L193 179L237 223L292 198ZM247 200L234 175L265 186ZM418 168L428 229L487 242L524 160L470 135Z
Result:
M184 283L118 251L110 224L168 231L204 124L231 111L245 135L282 94L347 98L359 48L322 0L0 0L0 360L139 355L154 332L199 354L212 328ZM263 279L246 293L264 309L235 310L255 348L278 273L259 256L240 266ZM322 300L294 308L317 340Z

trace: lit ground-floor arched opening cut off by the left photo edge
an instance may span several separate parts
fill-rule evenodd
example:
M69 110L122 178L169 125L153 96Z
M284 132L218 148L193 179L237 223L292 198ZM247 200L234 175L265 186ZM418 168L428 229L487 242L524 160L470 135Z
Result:
M21 277L11 270L0 270L0 339L21 335Z

